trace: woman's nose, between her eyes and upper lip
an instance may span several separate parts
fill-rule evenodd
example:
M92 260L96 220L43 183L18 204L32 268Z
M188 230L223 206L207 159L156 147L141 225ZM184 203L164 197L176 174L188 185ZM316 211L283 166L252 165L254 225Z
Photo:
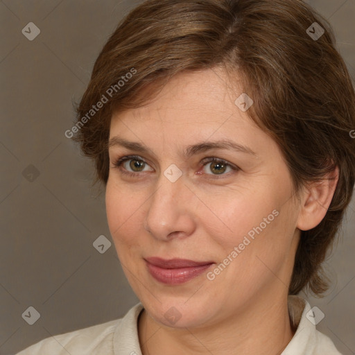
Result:
M193 218L193 210L196 210L193 209L193 203L196 200L193 197L184 184L183 176L171 182L162 175L157 190L149 199L145 229L162 241L190 236L196 230L196 220Z

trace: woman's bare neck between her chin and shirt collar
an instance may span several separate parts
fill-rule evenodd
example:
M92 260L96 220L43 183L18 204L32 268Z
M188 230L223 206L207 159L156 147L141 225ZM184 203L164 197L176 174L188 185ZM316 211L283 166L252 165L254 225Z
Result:
M291 341L295 329L288 315L287 295L259 297L223 324L175 329L155 322L144 310L138 320L143 355L243 354L277 355ZM263 295L265 296L265 295Z

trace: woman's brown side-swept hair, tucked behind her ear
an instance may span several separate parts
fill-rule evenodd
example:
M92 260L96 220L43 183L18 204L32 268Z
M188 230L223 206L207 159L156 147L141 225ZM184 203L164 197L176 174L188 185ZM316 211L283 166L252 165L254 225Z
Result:
M325 30L319 39L311 37L318 33L314 22ZM326 216L301 232L289 287L289 294L308 286L320 295L328 287L321 263L354 187L355 139L349 132L355 129L355 94L330 25L303 1L145 1L98 55L77 107L74 139L106 184L112 112L143 105L177 73L217 66L231 82L234 73L242 76L254 100L248 114L281 148L296 192L339 168ZM108 102L90 111L99 101Z

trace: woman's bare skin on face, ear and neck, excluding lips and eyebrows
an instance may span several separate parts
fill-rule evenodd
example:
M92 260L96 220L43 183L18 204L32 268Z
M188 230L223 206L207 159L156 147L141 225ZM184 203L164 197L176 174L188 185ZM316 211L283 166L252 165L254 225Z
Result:
M147 147L141 152L112 144L106 188L112 239L145 308L138 324L144 355L279 354L294 334L287 295L298 228L320 223L336 180L295 198L281 150L234 104L242 93L243 87L227 85L221 69L182 73L153 102L112 116L110 139ZM254 155L231 148L183 155L188 146L226 139ZM146 164L131 158L115 166L128 155ZM207 162L210 157L238 169ZM182 172L175 182L164 175L171 164ZM208 279L207 272L261 223L262 232ZM215 264L189 282L166 285L150 275L146 257ZM171 307L181 317L174 324L164 317Z

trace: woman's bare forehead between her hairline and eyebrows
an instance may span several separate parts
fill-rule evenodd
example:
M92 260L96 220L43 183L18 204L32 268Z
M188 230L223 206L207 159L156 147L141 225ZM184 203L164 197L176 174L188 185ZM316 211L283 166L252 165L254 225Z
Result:
M153 101L112 116L109 147L175 156L193 151L196 145L232 141L260 159L279 159L276 142L236 104L241 94L243 87L238 82L229 85L221 71L175 76Z

